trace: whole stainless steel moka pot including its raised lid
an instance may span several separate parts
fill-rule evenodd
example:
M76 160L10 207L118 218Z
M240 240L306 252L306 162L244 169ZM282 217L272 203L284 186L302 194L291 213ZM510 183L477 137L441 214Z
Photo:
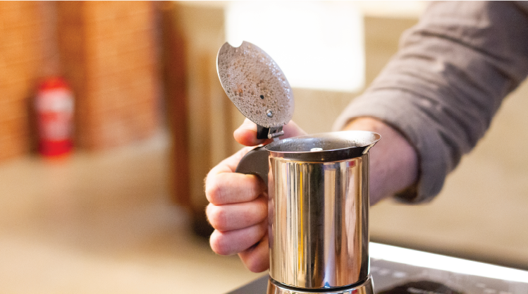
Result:
M268 294L374 294L369 274L369 149L377 133L343 131L290 137L286 76L259 47L223 44L217 58L223 89L260 138L237 172L268 185Z

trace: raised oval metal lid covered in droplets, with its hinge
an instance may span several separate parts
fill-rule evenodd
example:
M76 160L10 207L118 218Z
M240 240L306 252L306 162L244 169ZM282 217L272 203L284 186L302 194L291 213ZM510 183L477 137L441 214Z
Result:
M293 116L293 92L286 75L266 52L250 42L240 47L226 42L216 56L216 71L231 102L259 126L259 134L268 138L283 135L283 125Z

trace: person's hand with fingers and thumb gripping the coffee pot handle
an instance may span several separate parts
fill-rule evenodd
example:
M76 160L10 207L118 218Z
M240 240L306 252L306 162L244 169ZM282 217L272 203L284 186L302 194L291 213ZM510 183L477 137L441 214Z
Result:
M283 127L283 137L305 135L293 121ZM242 145L267 144L257 140L257 125L246 119L233 134ZM253 147L244 147L215 166L205 179L209 200L207 219L215 229L209 240L219 255L238 253L250 271L269 268L268 188L254 175L235 173L238 162Z

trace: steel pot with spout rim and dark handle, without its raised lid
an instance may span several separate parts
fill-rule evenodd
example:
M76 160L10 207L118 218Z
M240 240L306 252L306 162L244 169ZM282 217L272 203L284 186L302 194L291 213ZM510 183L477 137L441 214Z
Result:
M237 172L268 183L269 275L279 286L331 290L369 279L368 151L379 139L367 131L292 137L240 161Z

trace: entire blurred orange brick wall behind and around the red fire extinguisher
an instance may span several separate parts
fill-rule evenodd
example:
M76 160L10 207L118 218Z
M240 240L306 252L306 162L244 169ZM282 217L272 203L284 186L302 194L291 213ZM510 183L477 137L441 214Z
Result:
M3 0L0 161L32 147L39 78L63 74L75 94L76 146L104 149L159 128L152 0Z

